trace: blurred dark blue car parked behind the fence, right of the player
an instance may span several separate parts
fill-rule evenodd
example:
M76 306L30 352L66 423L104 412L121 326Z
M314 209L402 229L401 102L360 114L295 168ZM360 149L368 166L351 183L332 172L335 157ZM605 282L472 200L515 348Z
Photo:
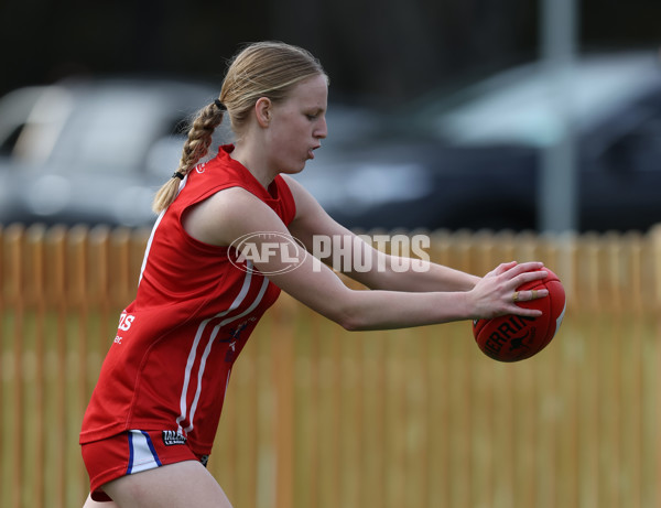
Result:
M582 56L562 72L561 96L534 63L416 99L358 149L319 150L299 180L351 228L534 229L541 151L568 127L578 229L661 223L658 55Z

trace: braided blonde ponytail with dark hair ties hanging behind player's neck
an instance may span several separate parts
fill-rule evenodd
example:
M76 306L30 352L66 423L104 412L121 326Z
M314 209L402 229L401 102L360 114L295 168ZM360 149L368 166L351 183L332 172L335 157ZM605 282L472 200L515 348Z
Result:
M172 204L178 192L180 182L207 154L214 130L223 121L225 111L225 106L216 99L197 114L188 131L188 139L184 143L178 167L154 196L152 203L154 213L160 214Z

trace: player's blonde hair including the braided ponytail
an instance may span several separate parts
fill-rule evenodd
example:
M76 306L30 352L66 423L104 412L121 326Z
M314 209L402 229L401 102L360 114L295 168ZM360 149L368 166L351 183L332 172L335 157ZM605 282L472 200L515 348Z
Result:
M221 106L218 101L212 102L193 120L178 167L156 193L153 210L160 214L174 201L180 179L207 154L214 130L225 112L229 115L232 131L240 137L261 97L272 102L282 101L296 84L317 75L326 76L322 64L301 47L282 42L258 42L243 47L229 62L218 97Z

